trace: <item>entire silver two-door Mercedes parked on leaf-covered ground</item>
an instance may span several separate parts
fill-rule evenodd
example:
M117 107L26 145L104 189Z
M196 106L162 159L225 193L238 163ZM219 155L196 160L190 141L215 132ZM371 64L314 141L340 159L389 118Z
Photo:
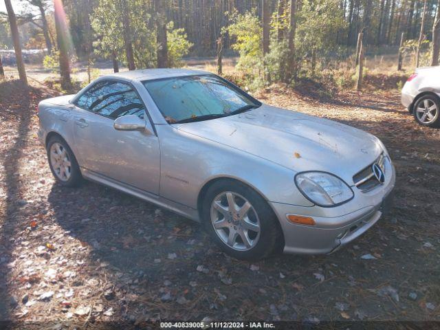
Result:
M238 259L333 252L377 222L395 186L377 137L208 72L103 76L42 101L39 120L60 184L90 179L200 221Z

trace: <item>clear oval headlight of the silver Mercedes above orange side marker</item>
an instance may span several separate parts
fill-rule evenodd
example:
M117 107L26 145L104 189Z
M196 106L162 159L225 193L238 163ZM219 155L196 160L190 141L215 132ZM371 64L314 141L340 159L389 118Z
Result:
M300 192L318 206L337 206L354 196L342 179L325 172L298 173L295 183Z

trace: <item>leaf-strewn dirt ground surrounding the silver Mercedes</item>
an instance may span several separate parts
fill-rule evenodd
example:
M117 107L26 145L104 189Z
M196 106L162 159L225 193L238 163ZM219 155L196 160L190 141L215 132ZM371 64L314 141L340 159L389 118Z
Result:
M36 137L36 104L51 95L0 83L0 320L440 320L440 130L417 125L397 90L257 95L377 135L397 170L391 214L355 242L259 263L151 203L58 186Z

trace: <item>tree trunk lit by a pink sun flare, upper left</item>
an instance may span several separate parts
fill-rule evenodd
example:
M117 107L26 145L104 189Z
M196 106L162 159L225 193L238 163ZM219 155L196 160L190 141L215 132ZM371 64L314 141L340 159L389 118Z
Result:
M56 30L56 43L58 44L58 52L60 53L60 74L61 85L64 89L72 87L72 81L70 80L70 65L69 65L69 46L66 35L65 21L62 21L65 17L63 9L63 3L56 1L54 6L55 14L55 30Z

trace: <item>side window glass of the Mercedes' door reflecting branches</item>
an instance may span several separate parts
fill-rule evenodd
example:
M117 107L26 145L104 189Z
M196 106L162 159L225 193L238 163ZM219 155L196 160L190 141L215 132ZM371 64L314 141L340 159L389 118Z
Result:
M102 80L75 102L77 107L115 120L122 115L144 119L145 107L131 85L117 80Z

